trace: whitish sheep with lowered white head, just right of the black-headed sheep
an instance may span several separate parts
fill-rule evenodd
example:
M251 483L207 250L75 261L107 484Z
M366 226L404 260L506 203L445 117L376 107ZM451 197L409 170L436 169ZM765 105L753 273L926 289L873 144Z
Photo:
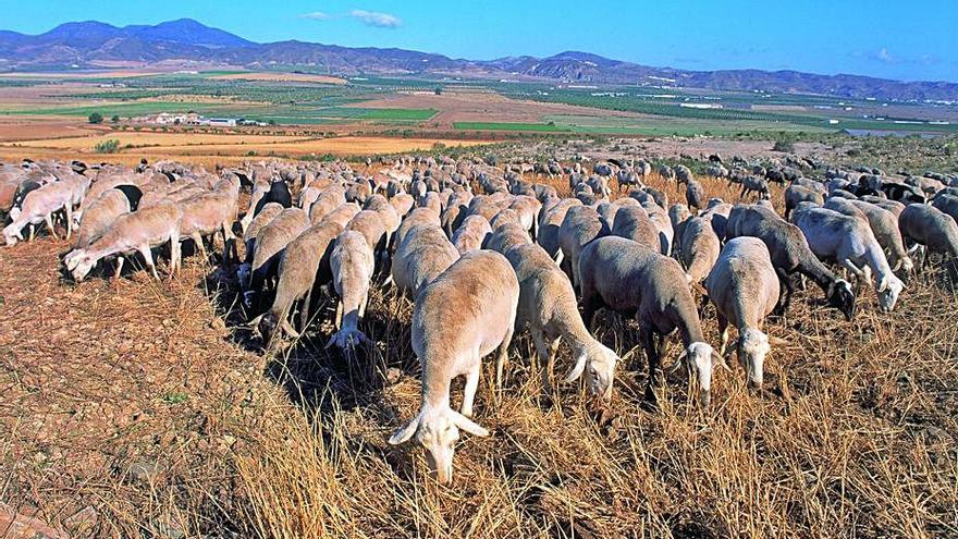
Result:
M860 282L871 282L874 272L879 307L883 313L895 308L905 283L892 272L867 220L825 208L798 209L793 219L819 258L837 260Z

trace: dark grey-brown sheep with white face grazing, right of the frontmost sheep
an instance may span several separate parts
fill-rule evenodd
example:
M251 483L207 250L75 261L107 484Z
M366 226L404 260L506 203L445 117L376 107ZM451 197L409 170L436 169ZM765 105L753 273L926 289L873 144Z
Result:
M624 237L600 237L582 250L579 259L582 321L589 328L601 307L635 313L649 362L649 400L660 370L664 340L679 330L685 351L675 368L686 359L698 371L700 402L711 402L713 351L705 343L699 314L678 262ZM659 336L659 343L655 338ZM718 363L724 365L718 357ZM726 367L727 368L727 367Z

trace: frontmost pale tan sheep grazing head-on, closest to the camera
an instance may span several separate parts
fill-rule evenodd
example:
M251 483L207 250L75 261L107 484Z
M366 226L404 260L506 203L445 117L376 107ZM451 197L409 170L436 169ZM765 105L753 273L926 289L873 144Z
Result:
M414 436L427 450L442 483L452 481L459 429L489 432L469 419L482 357L496 347L496 380L515 331L519 283L509 262L489 250L467 253L419 293L413 311L413 351L422 366L419 413L390 438L393 445ZM450 323L455 320L455 323ZM450 407L453 378L465 376L460 412Z

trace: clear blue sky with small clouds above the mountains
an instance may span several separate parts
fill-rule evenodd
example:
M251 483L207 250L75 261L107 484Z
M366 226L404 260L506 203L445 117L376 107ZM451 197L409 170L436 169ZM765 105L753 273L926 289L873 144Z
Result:
M584 50L690 70L793 69L958 82L958 1L0 0L0 28L181 17L256 41L400 47L454 58Z

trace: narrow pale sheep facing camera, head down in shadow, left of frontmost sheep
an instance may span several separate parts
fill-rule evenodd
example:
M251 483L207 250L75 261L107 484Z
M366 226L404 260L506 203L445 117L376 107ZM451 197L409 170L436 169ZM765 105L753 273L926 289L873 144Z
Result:
M372 247L363 233L347 230L336 237L330 255L330 269L340 301L336 304L336 332L327 348L335 344L340 350L353 350L356 344L367 341L366 334L359 331L359 320L366 315L373 268Z

